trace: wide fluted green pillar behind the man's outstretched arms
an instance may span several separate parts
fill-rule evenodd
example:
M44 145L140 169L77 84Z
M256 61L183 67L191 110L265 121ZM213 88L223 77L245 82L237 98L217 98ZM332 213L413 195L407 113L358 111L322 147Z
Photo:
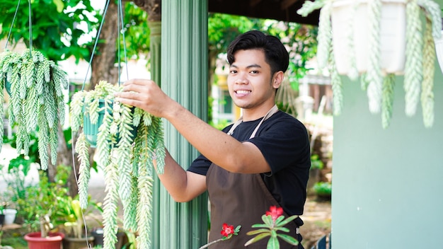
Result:
M207 120L207 0L162 1L161 87L171 98ZM198 152L165 122L173 158L188 168ZM159 223L153 248L195 249L207 243L207 195L176 203L163 186L155 204Z

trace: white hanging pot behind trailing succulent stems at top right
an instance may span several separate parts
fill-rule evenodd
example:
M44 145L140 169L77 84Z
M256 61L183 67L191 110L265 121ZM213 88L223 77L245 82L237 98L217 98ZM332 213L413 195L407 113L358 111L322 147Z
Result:
M331 9L333 52L339 74L352 70L359 74L369 63L369 25L367 0L336 0ZM382 74L403 74L405 65L405 0L383 0L380 23L380 62ZM352 53L352 54L351 54Z

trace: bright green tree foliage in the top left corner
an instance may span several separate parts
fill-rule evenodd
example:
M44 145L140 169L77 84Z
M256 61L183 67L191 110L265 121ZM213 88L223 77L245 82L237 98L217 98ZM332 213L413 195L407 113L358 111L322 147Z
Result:
M3 26L0 39L7 37L13 24L11 40L16 43L23 39L25 45L30 45L28 1L21 1L12 23L16 7L16 1L0 0L0 23ZM54 61L71 55L77 62L89 59L92 43L81 44L81 40L96 28L100 19L90 0L33 0L31 10L33 48Z

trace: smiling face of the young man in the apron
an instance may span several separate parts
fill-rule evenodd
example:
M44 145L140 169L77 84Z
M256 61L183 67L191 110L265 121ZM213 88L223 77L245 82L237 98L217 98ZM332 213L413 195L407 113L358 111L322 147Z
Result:
M263 50L238 50L229 67L229 94L239 108L260 108L263 103L274 103L270 65L265 62Z

